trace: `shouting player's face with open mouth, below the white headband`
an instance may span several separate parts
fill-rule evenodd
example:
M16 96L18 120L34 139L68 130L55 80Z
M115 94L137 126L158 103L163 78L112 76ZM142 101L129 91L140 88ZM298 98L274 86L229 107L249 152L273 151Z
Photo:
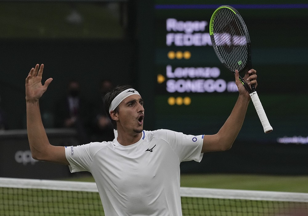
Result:
M143 130L144 108L139 95L131 95L119 104L117 128L129 133L141 133Z

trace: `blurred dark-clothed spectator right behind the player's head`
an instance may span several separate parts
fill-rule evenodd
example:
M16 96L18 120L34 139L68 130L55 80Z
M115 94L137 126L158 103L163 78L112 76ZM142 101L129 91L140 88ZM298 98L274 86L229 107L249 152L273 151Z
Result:
M114 139L113 127L107 113L104 109L104 97L105 94L113 88L112 82L107 79L103 79L99 85L99 96L95 104L96 116L92 123L92 136L91 140L96 142L112 141Z

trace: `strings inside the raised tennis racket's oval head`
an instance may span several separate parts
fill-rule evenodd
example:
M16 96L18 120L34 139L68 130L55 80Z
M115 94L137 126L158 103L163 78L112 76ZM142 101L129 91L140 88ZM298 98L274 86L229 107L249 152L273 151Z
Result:
M226 65L232 70L242 70L247 63L248 48L240 20L231 10L223 8L214 22L214 40Z

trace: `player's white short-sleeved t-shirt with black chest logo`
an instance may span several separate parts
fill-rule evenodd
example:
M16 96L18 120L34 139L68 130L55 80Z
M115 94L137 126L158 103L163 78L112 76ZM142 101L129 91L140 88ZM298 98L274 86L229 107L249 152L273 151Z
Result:
M72 173L92 173L106 216L179 216L180 162L201 161L203 137L161 129L128 146L114 139L65 152Z

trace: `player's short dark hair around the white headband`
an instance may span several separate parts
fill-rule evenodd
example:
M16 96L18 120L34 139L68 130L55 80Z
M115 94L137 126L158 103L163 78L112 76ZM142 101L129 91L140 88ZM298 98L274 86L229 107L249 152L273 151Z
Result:
M106 111L106 113L107 113L107 116L108 116L109 119L111 120L111 123L112 123L112 126L113 126L114 129L117 129L117 127L116 127L116 121L111 119L111 116L110 116L110 113L109 113L110 104L111 104L112 100L113 100L118 94L120 94L121 92L123 92L124 90L129 89L129 88L132 88L132 86L130 86L130 85L117 86L117 87L115 87L114 89L112 89L111 91L107 92L106 95L105 95L105 103L104 103L104 105L105 105L105 111ZM115 113L118 113L118 112L119 112L119 106L117 106L117 107L114 109L114 112L115 112Z

